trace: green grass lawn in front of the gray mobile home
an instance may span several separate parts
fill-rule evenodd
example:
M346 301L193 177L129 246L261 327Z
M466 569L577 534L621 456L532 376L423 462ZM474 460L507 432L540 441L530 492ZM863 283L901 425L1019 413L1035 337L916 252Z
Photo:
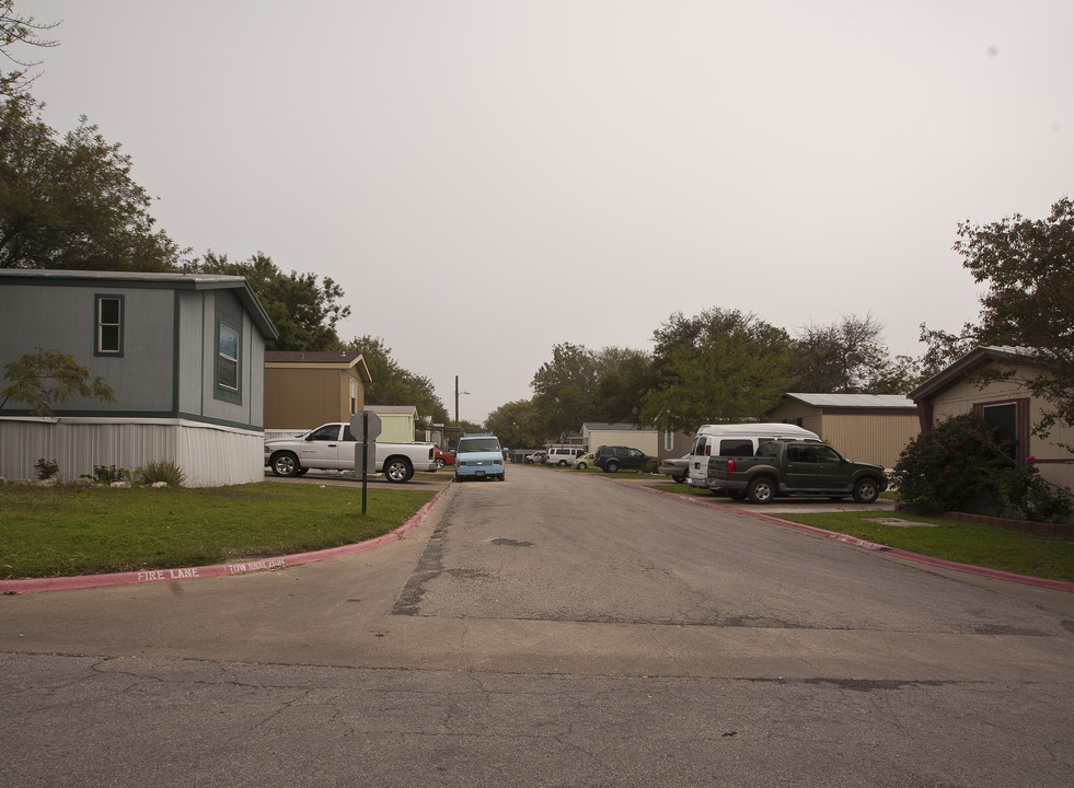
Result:
M0 488L0 579L207 566L394 531L427 490L262 482L198 489Z

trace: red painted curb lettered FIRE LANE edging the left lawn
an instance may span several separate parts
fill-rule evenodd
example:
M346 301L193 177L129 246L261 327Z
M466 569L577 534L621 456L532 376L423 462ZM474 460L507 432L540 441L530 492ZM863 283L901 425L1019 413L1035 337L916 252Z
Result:
M342 547L330 547L323 551L310 553L298 553L289 556L274 556L272 558L258 558L256 560L242 561L239 564L216 564L205 567L187 567L184 569L150 569L146 571L115 572L112 575L83 575L80 577L61 578L32 578L27 580L0 580L0 594L12 593L38 593L42 591L73 591L84 588L101 588L103 586L130 586L141 583L163 582L166 580L194 580L210 577L228 577L230 575L246 575L249 572L262 571L265 569L279 569L287 566L299 566L300 564L311 564L313 561L325 560L326 558L337 558L355 553L381 547L382 545L397 542L404 536L409 535L432 509L434 505L443 496L443 490L437 493L432 500L415 512L414 517L400 525L391 533L383 536L366 540L353 545Z

